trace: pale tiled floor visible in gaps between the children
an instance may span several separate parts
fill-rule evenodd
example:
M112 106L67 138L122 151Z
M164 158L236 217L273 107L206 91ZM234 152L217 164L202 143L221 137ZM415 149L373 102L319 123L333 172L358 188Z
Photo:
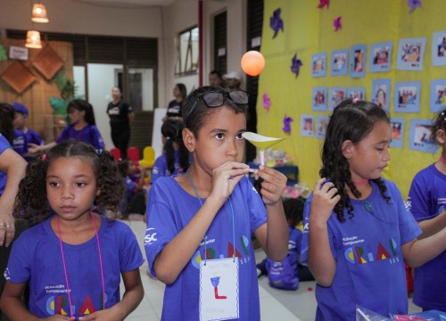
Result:
M144 251L145 223L142 221L124 221L132 228ZM263 251L256 251L256 259L264 259ZM141 278L145 288L145 298L138 308L127 318L129 321L160 321L164 284L147 275L147 262L141 267ZM269 287L268 278L259 279L260 314L262 321L310 321L314 320L316 300L314 282L301 282L297 291L283 291ZM122 286L122 284L121 284ZM123 292L123 288L121 289ZM409 300L409 312L419 312Z

